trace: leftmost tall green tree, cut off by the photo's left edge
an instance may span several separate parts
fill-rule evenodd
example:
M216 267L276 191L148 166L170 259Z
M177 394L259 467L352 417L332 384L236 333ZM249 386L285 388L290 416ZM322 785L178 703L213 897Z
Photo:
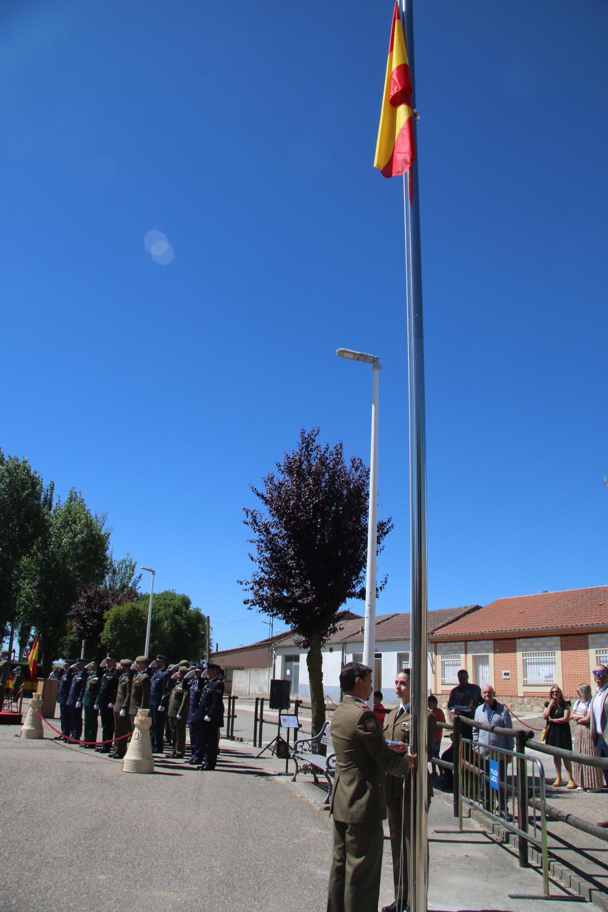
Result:
M43 534L53 501L53 484L26 459L5 456L0 449L0 632L15 624L21 586L21 563Z

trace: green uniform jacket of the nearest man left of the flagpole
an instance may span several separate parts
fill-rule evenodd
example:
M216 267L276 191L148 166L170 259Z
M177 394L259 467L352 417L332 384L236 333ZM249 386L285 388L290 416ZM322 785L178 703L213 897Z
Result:
M332 724L335 781L330 814L344 824L376 824L386 818L384 773L405 776L405 757L390 751L376 714L345 696Z

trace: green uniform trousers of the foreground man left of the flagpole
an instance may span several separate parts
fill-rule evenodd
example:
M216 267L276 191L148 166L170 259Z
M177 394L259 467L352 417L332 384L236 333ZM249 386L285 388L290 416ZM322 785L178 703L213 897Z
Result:
M376 824L334 821L327 912L377 912L384 833Z

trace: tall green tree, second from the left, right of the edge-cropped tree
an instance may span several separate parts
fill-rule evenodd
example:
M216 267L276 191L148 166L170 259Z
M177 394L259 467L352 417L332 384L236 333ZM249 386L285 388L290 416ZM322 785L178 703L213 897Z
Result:
M69 627L68 612L83 586L108 571L106 517L90 513L72 489L45 512L43 532L22 561L19 615L40 634L46 674Z

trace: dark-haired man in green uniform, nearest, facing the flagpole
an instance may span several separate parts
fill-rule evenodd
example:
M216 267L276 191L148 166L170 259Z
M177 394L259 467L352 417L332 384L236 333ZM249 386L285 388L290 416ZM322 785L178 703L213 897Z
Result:
M327 912L377 912L386 818L384 773L405 776L416 757L399 756L407 747L390 748L375 713L366 706L372 673L360 662L340 672L344 700L332 719L335 782L334 859L329 876Z

